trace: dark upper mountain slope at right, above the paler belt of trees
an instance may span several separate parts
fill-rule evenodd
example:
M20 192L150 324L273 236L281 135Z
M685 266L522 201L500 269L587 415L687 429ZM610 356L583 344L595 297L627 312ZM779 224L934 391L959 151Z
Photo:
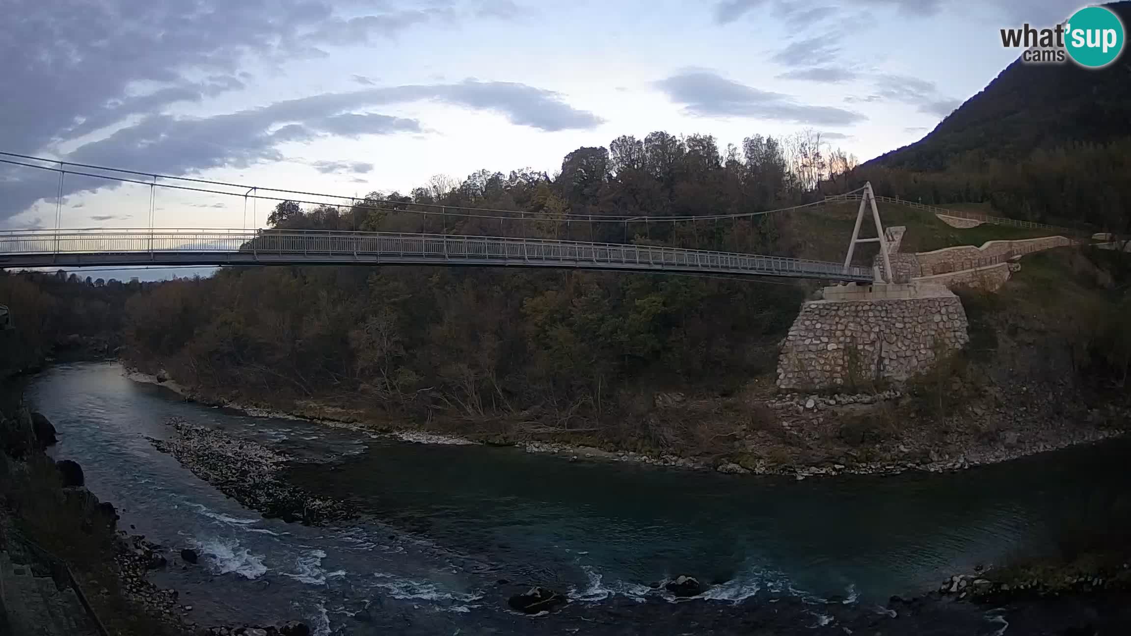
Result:
M1131 1L1104 5L1124 26ZM1124 45L1124 48L1126 48ZM962 162L1009 160L1037 148L1106 144L1131 136L1131 52L1103 69L1031 65L1020 58L918 141L864 166L940 171Z

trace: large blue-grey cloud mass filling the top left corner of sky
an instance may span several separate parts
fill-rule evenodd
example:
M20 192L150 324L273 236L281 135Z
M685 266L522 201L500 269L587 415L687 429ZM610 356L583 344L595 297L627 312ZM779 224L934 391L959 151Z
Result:
M386 2L340 9L339 5L333 0L8 0L7 19L0 20L0 77L5 86L19 89L0 91L0 139L15 152L45 154L58 153L64 141L121 124L140 128L116 137L118 141L144 139L146 131L162 126L176 134L201 124L153 118L178 103L199 103L241 89L252 79L240 68L249 60L277 66L318 55L322 45L392 37L415 25L470 15L469 9L442 0L422 9ZM339 10L348 11L348 18ZM138 94L141 86L148 92ZM292 127L271 139L317 132ZM236 137L245 141L265 135L257 129ZM153 151L169 143L150 141L155 145L146 147L146 155L156 167L215 165L213 160L195 165L155 157ZM216 161L223 160L224 153L211 152L221 157ZM242 148L233 161L262 154ZM9 209L0 209L0 218L8 214Z

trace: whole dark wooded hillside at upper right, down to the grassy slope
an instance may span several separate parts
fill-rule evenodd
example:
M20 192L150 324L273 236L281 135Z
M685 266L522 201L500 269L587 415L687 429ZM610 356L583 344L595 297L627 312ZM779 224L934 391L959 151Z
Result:
M1131 24L1131 2L1107 5ZM929 204L1125 232L1131 223L1131 55L1103 69L1007 67L926 137L861 166L878 191Z

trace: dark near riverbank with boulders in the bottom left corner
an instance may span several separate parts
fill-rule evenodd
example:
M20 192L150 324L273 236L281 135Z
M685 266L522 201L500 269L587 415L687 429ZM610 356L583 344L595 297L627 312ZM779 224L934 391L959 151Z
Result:
M144 535L118 528L115 507L84 484L81 466L45 450L57 431L18 406L21 387L0 383L0 630L21 636L261 634L309 636L301 622L199 625L178 591L149 574L191 567ZM131 526L132 527L132 526ZM34 539L34 541L33 541ZM31 631L25 631L31 629Z

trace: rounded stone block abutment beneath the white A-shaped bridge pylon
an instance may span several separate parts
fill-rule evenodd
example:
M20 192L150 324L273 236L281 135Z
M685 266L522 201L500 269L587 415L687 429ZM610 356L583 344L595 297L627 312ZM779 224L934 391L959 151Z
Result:
M778 387L834 388L871 378L906 380L940 351L969 337L966 311L950 292L903 300L809 301L778 358Z

